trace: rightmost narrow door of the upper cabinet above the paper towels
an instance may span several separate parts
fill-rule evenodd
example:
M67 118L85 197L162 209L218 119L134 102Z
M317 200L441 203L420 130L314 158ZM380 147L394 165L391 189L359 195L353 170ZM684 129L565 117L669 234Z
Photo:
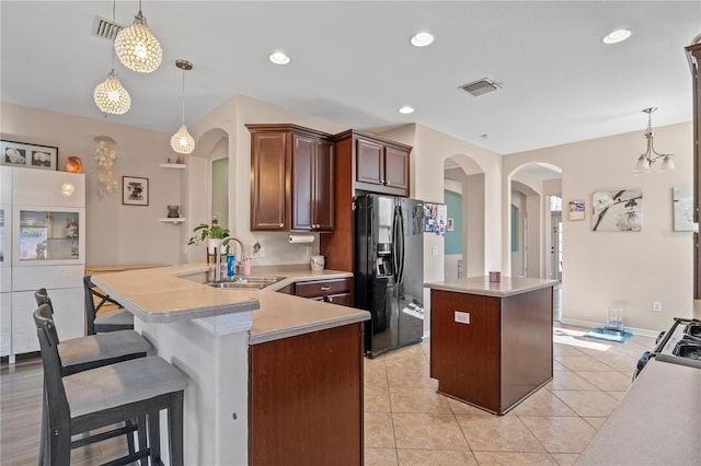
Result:
M317 141L314 156L313 223L315 231L334 229L334 152L331 141Z

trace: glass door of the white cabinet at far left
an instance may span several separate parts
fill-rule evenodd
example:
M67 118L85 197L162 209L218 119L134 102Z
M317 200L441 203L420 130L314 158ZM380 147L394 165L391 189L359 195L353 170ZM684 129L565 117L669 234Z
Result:
M18 212L14 256L19 265L80 261L84 252L81 240L84 222L82 209L20 208Z

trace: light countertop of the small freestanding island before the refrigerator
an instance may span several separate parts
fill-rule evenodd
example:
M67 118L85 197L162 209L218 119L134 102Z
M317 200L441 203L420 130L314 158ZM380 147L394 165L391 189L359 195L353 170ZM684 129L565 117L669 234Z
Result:
M501 281L492 282L490 277L485 276L437 281L425 283L424 287L432 290L506 298L541 288L554 287L555 284L558 284L556 280L521 277L502 277Z

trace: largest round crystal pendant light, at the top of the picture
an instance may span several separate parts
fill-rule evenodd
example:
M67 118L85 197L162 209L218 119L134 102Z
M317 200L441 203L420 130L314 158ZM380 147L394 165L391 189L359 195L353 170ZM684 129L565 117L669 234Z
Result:
M151 73L161 66L163 50L146 25L146 18L141 13L141 0L134 23L119 31L114 39L114 49L122 65L133 71Z

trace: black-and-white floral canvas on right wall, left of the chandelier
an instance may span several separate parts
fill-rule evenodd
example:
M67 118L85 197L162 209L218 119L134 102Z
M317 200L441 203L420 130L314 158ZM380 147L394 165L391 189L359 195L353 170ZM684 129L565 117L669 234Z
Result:
M591 195L591 230L639 232L643 222L642 207L640 189L596 191Z

